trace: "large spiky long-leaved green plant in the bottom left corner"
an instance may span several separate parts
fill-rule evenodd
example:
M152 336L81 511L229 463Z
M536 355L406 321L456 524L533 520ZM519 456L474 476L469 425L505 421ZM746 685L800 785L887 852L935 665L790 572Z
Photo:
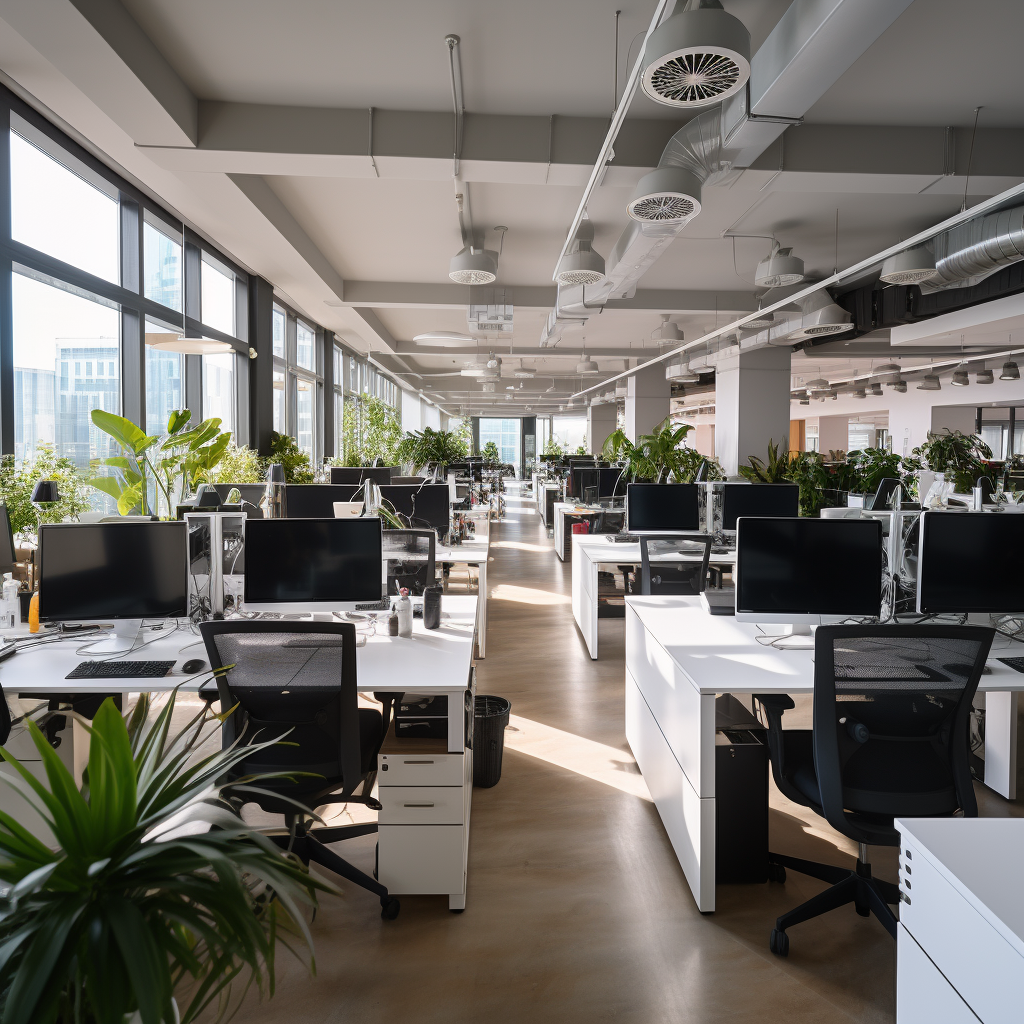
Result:
M253 748L204 756L219 716L174 735L173 711L173 694L152 720L145 694L127 719L105 700L82 722L81 788L31 722L46 784L2 751L12 773L0 777L54 839L0 814L6 1024L172 1024L175 998L182 1024L223 1018L252 985L273 994L285 936L310 944L303 908L331 887L247 826L222 781Z

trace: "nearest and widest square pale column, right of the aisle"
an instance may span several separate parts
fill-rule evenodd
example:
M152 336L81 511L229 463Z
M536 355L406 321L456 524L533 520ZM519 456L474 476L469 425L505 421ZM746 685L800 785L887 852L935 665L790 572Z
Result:
M790 446L790 349L759 348L719 362L715 377L715 452L735 477L768 441Z

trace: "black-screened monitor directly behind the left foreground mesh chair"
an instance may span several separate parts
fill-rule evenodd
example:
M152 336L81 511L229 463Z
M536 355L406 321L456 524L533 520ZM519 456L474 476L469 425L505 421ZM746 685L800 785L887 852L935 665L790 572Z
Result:
M246 522L247 606L333 609L349 601L378 601L383 571L376 516Z

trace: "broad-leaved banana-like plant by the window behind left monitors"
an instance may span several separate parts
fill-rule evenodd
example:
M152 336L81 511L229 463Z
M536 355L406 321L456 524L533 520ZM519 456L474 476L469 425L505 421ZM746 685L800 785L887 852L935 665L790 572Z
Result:
M121 446L122 455L94 460L111 475L94 475L89 483L118 503L121 515L139 512L174 517L175 506L213 475L230 443L230 431L221 431L216 417L189 427L191 413L171 413L163 434L147 434L131 420L102 409L92 411L93 424ZM151 495L151 485L153 495ZM156 497L156 508L151 498Z

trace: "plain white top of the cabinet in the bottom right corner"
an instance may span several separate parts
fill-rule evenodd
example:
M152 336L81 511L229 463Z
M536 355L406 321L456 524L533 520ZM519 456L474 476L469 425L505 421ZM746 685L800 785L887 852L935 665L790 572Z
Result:
M896 827L1024 956L1024 820L908 818Z

